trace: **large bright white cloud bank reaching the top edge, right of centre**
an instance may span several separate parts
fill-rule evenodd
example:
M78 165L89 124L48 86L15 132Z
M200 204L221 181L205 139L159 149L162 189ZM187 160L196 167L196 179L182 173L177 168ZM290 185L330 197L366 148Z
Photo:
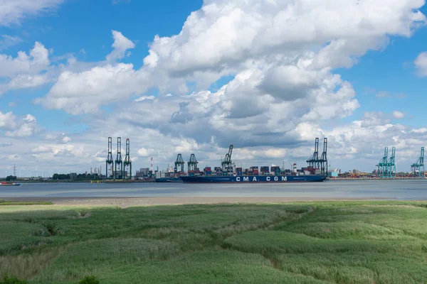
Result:
M148 65L164 65L174 72L224 68L233 62L275 56L295 57L300 50L310 50L330 42L320 53L319 67L342 62L349 55L362 55L378 48L384 35L411 34L418 21L425 21L419 11L423 1L386 0L352 1L204 1L191 13L179 35L156 36ZM387 15L387 16L385 16ZM332 48L333 47L333 48ZM344 60L345 61L345 60ZM342 65L342 64L339 64ZM347 65L347 64L345 64Z

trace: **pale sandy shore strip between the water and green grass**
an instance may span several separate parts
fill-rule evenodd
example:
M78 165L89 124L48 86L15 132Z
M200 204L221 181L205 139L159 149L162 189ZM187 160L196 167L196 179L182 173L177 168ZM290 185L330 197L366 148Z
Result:
M53 202L58 205L117 205L120 207L173 205L173 204L218 204L218 203L282 203L332 200L383 200L381 199L331 199L306 197L0 197L1 200ZM391 200L392 198L386 198Z

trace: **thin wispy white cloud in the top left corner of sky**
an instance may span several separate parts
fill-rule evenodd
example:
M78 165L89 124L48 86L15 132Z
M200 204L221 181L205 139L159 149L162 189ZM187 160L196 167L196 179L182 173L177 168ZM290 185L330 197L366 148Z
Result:
M26 16L53 11L65 0L2 0L0 1L0 26L19 24Z

